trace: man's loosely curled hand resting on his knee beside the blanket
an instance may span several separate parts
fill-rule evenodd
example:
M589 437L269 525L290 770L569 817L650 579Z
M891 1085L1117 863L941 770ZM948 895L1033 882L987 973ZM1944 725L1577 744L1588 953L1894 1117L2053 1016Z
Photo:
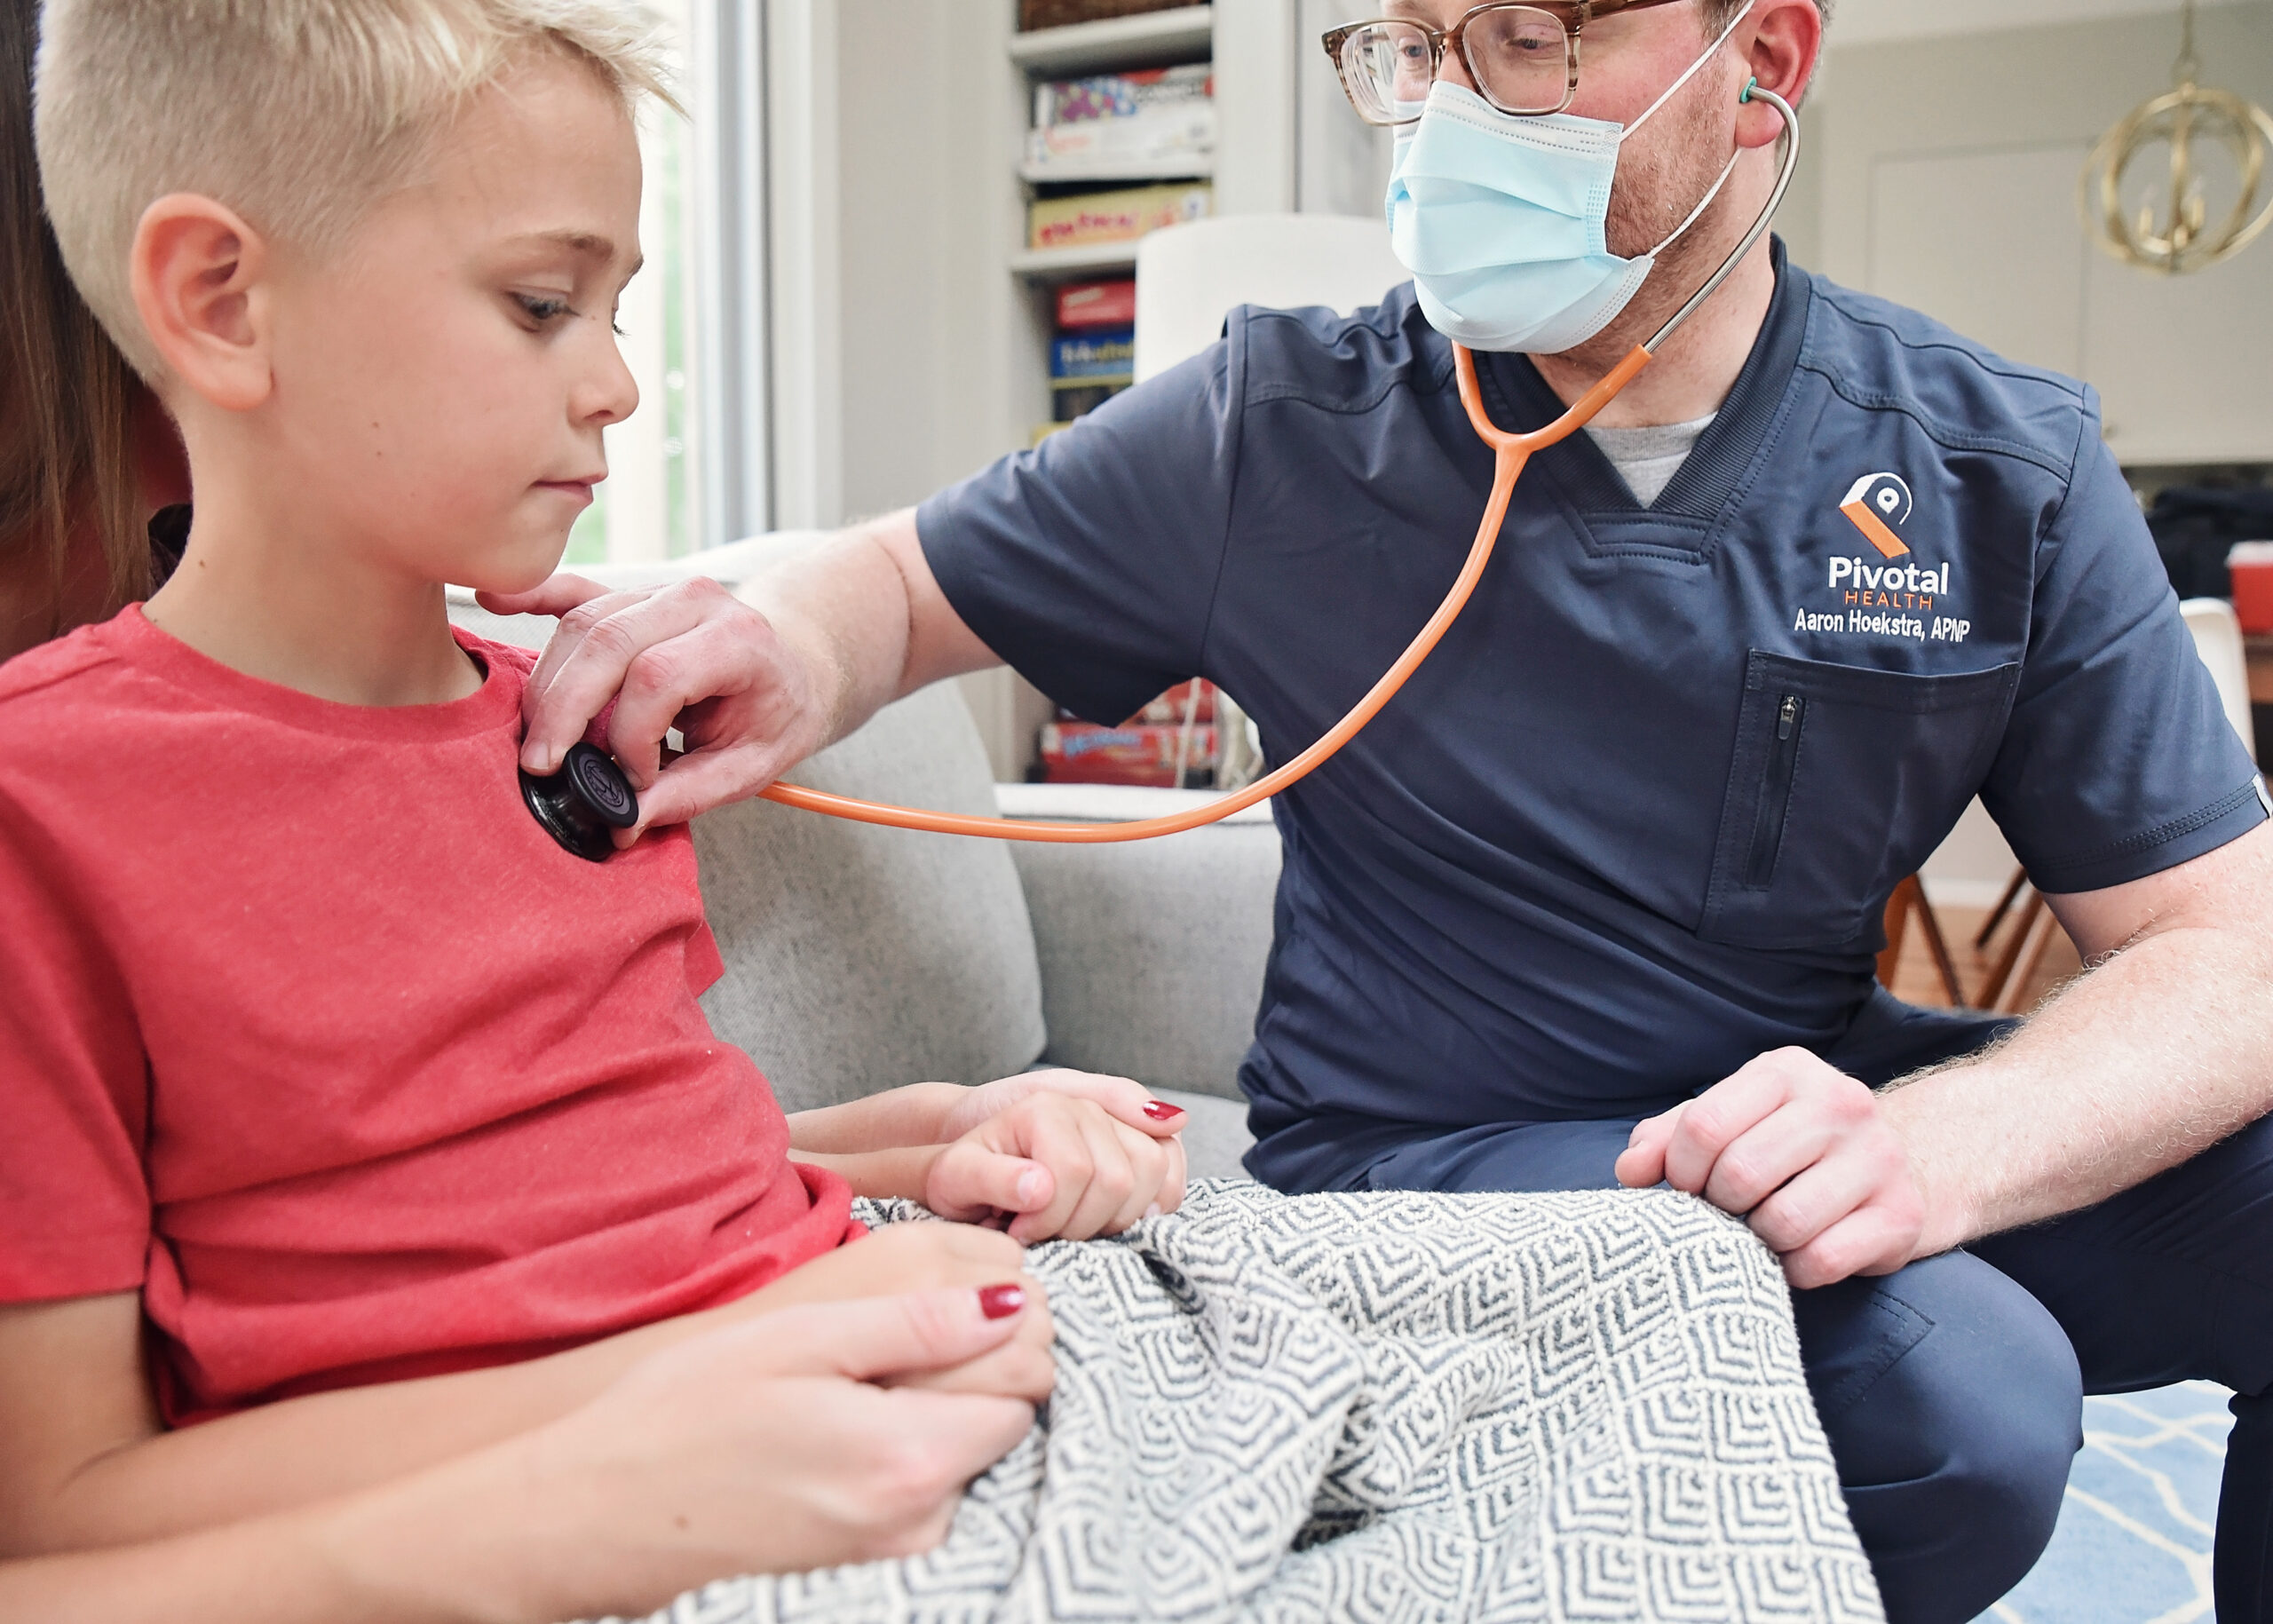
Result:
M1637 1126L1618 1183L1659 1180L1743 1217L1796 1290L1893 1274L1948 1244L1928 1237L1925 1190L1880 1096L1805 1049Z

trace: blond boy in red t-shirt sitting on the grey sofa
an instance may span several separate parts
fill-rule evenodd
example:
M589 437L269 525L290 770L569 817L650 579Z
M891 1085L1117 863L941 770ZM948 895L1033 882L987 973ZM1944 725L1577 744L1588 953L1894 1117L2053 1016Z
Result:
M586 862L521 803L530 660L443 582L543 580L636 405L655 89L602 0L48 7L50 214L198 507L145 610L0 671L5 1551L389 1481L721 1317L1005 1281L964 1226L848 1246L855 1192L1034 1240L1182 1190L1125 1080L784 1121L696 1005L684 828ZM1025 1315L943 1381L1046 1392Z

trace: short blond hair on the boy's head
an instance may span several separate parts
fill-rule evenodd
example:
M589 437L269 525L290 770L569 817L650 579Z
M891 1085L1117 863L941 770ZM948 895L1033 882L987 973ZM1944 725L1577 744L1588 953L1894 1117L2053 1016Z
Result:
M586 64L627 107L671 100L634 0L48 0L39 171L64 264L159 382L130 273L152 202L202 193L325 255L530 50Z

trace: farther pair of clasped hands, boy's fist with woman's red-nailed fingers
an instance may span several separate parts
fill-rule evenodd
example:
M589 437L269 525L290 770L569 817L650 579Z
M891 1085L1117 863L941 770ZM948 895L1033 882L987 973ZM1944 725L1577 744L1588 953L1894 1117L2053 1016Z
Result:
M1130 1078L1046 1069L971 1089L941 1119L923 1203L1011 1240L1089 1240L1184 1201L1184 1110Z

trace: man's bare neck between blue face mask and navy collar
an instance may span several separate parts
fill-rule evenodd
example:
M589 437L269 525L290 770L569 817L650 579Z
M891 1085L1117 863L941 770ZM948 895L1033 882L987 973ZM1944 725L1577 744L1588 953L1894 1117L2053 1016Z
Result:
M1548 389L1564 405L1573 405L1593 389L1612 366L1657 332L1702 287L1705 277L1741 241L1743 230L1755 218L1752 207L1757 205L1748 200L1734 200L1734 205L1743 209L1741 216L1734 209L1721 216L1723 221L1734 221L1734 234L1727 241L1712 243L1705 252L1687 255L1682 264L1662 264L1643 284L1643 298L1637 298L1634 307L1607 332L1564 355L1532 357L1532 366L1539 368ZM1743 257L1743 264L1730 273L1727 282L1698 307L1696 316L1680 332L1666 339L1666 346L1641 368L1641 375L1616 400L1602 407L1602 414L1593 421L1596 428L1696 423L1700 416L1718 412L1721 403L1727 400L1727 391L1737 387L1737 373L1743 371L1746 359L1752 355L1752 343L1768 321L1768 305L1773 300L1775 259L1768 239L1762 237L1752 246L1752 252Z

